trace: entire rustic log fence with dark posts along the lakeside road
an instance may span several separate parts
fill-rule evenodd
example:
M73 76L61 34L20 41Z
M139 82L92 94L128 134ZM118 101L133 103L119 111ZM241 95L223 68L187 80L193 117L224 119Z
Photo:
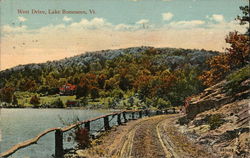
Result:
M104 130L109 130L111 128L110 126L110 120L109 117L112 116L112 118L114 118L115 116L117 116L117 124L121 125L122 123L126 123L129 118L127 117L127 114L131 114L131 119L135 119L135 114L138 113L138 118L142 118L143 115L144 116L152 116L152 115L159 115L159 114L168 114L168 113L176 113L176 110L173 109L166 109L164 111L149 111L149 110L126 110L126 111L120 111L120 112L114 112L114 113L110 113L107 115L103 115L100 117L96 117L93 119L89 119L89 120L83 120L80 122L77 122L75 124L60 128L50 128L47 129L45 131L43 131L42 133L38 134L36 137L26 140L24 142L18 143L14 146L12 146L9 150L0 153L0 157L8 157L10 155L12 155L13 153L15 153L16 151L18 151L19 149L28 147L32 144L36 144L37 141L43 137L44 135L51 133L53 131L55 131L55 157L56 158L63 158L64 155L64 149L63 149L63 133L67 132L73 128L76 128L80 125L84 124L84 128L86 128L88 131L90 131L90 123L99 119L103 119L104 121ZM123 122L122 122L122 118L123 117Z

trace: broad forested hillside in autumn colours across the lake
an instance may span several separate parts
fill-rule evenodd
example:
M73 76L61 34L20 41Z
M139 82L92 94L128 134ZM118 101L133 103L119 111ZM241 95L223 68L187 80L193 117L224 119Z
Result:
M207 70L205 61L218 53L135 47L20 65L0 72L1 102L22 105L25 103L20 99L26 95L26 102L33 97L37 102L30 104L39 106L39 97L58 95L60 87L70 83L76 86L78 106L101 98L108 98L101 108L129 107L135 100L137 106L181 105L187 96L204 89L198 76Z

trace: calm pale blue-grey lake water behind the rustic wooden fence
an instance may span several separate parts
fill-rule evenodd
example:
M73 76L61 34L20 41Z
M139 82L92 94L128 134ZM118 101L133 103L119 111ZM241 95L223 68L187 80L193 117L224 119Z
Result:
M78 117L80 120L86 120L110 112L80 109L0 109L0 152L9 149L19 142L33 138L48 128L64 126L59 119L60 117L66 121L75 117ZM102 120L95 121L91 123L91 132L102 127ZM42 137L37 144L20 149L10 157L49 158L54 154L54 141L54 132L51 132ZM69 146L72 147L72 144L65 139L64 148Z

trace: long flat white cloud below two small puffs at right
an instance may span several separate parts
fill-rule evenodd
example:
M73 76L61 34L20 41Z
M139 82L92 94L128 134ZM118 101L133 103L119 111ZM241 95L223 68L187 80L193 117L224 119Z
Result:
M191 20L191 21L177 21L171 22L168 26L173 28L194 28L205 24L202 20Z

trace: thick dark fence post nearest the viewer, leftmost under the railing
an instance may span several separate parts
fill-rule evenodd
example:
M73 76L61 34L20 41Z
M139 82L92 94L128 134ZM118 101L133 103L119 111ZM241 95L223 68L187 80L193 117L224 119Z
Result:
M63 158L63 132L60 129L55 132L55 157Z

